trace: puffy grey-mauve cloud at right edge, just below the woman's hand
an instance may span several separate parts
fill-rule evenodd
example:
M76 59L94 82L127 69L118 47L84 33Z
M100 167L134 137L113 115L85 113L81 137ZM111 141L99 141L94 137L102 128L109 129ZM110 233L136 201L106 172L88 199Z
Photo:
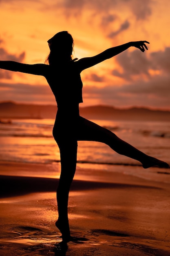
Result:
M116 56L121 68L112 71L114 76L125 80L133 80L135 76L144 75L151 78L152 74L170 74L170 47L164 51L152 52L150 55L142 54L139 50L124 52Z

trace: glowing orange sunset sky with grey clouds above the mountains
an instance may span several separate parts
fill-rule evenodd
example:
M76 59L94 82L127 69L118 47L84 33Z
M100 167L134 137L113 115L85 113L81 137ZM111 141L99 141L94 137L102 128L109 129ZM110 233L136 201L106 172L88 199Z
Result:
M170 110L169 0L1 0L0 60L44 63L46 42L66 30L74 57L93 56L129 41L136 48L82 72L81 106L144 106ZM0 70L0 101L55 104L44 77Z

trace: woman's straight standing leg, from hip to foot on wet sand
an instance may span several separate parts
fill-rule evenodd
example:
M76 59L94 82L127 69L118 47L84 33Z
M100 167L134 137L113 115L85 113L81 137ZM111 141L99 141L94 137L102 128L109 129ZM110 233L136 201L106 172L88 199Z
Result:
M61 175L57 188L58 220L55 225L62 233L62 240L71 240L68 222L68 194L75 175L77 162L77 141L60 145Z

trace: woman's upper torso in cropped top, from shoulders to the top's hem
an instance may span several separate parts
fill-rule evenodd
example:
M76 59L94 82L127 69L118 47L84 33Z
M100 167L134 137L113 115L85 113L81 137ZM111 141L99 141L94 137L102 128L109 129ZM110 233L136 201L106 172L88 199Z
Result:
M65 111L66 108L74 110L79 103L83 102L83 84L76 62L70 61L49 66L46 80L55 96L58 110Z

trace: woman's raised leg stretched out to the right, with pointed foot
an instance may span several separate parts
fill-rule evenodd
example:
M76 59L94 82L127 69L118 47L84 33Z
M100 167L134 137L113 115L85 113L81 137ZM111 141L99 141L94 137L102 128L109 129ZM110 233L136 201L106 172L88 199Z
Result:
M117 137L110 130L103 128L87 119L80 117L79 127L77 131L77 140L99 141L107 144L121 155L126 155L132 159L141 162L144 168L151 166L159 166L167 168L166 162L160 161L154 157L150 157L137 148L131 146L126 141Z

